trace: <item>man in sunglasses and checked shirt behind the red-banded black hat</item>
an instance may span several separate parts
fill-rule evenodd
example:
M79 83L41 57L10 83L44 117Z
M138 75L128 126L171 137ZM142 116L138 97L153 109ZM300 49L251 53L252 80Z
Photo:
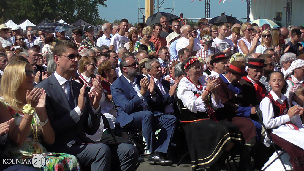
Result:
M274 71L275 65L270 54L260 54L257 58L264 59L264 64L267 64L267 67L263 68L263 75L260 82L265 86L266 93L268 94L271 90L271 86L269 85L269 74Z

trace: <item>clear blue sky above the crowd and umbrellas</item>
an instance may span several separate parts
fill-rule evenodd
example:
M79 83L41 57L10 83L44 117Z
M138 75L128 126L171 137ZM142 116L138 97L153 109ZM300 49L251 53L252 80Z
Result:
M159 2L162 1L164 0L159 0ZM195 0L192 3L191 1L175 0L174 15L179 16L179 13L182 12L186 18L205 18L205 0ZM156 4L157 1L155 0L154 3ZM129 20L129 23L138 23L138 0L108 0L105 4L108 6L107 8L103 6L98 7L101 19L105 18L109 23L112 23L114 19L120 20L126 18ZM145 0L140 0L139 5L140 8L145 8ZM226 16L232 15L233 17L246 18L246 6L246 1L241 3L241 0L231 0L230 2L226 0L225 3L221 2L220 4L219 0L210 0L210 18L220 16L222 12L225 12ZM165 0L162 7L173 8L173 0ZM145 12L144 9L142 11ZM166 11L160 10L160 12ZM140 18L143 18L141 13ZM239 20L246 21L245 19ZM140 19L139 22L142 21L143 19Z

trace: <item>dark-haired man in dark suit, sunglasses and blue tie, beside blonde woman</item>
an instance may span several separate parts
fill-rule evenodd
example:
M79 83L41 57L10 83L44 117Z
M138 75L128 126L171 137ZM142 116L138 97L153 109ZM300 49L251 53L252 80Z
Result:
M95 97L91 101L86 84L71 80L77 70L77 54L78 48L71 41L58 42L54 47L56 72L36 86L47 92L47 115L56 137L53 145L45 147L77 156L84 170L134 170L138 159L134 145L108 146L86 137L95 134L100 125L102 87L94 85Z

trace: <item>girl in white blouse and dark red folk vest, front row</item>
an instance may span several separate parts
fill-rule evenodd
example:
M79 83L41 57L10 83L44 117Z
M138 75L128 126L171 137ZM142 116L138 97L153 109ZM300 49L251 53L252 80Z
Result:
M266 128L271 129L272 140L290 155L293 170L304 170L304 127L299 117L303 108L298 105L291 107L282 94L286 91L282 72L272 72L269 85L271 91L260 103L263 122Z

